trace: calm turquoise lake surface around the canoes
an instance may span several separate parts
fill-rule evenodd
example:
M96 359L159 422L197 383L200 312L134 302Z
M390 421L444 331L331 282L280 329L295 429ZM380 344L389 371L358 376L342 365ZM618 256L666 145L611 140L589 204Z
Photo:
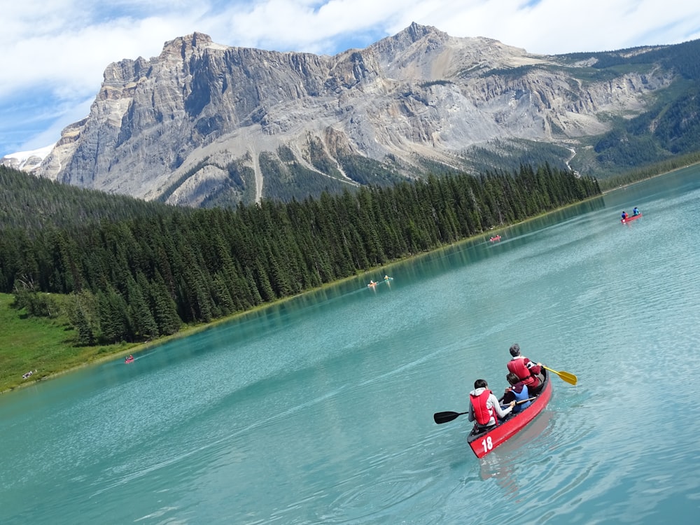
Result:
M683 169L0 395L0 524L697 524L699 202ZM514 342L578 384L478 460L433 413Z

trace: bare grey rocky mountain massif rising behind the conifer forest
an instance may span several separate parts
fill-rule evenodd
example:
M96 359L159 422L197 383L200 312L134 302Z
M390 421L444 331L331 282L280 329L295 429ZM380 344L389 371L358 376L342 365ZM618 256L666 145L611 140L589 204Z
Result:
M358 183L343 155L392 159L414 177L416 159L458 167L465 148L494 138L604 132L601 116L640 111L645 94L672 80L661 70L577 80L572 71L587 67L416 24L332 57L227 47L195 33L166 43L158 57L110 64L90 115L66 127L33 170L190 206L232 188L235 172L250 174L233 177L237 198L259 200L268 195L260 155L283 165L281 147L340 184ZM311 144L332 169L314 162Z

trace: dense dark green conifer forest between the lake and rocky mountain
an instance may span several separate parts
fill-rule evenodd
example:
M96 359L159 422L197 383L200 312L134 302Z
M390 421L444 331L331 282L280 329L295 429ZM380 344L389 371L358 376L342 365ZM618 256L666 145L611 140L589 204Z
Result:
M0 167L0 292L73 346L143 342L600 193L545 164L183 209Z

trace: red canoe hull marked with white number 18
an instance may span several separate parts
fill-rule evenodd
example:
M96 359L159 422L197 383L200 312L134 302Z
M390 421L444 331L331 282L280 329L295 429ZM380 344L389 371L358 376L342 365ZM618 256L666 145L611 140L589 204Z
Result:
M486 456L499 444L505 443L525 428L547 406L549 399L552 398L552 381L549 381L547 370L542 369L542 374L545 374L545 384L529 407L522 412L507 416L505 421L501 421L498 426L493 426L485 432L479 431L477 425L474 425L469 437L467 437L467 442L477 458Z

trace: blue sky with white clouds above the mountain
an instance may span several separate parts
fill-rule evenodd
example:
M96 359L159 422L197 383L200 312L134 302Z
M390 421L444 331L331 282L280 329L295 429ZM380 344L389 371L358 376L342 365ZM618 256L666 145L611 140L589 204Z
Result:
M86 6L87 4L87 6ZM700 38L688 0L20 0L3 2L0 157L87 116L108 64L194 31L216 43L333 55L411 22L558 54Z

